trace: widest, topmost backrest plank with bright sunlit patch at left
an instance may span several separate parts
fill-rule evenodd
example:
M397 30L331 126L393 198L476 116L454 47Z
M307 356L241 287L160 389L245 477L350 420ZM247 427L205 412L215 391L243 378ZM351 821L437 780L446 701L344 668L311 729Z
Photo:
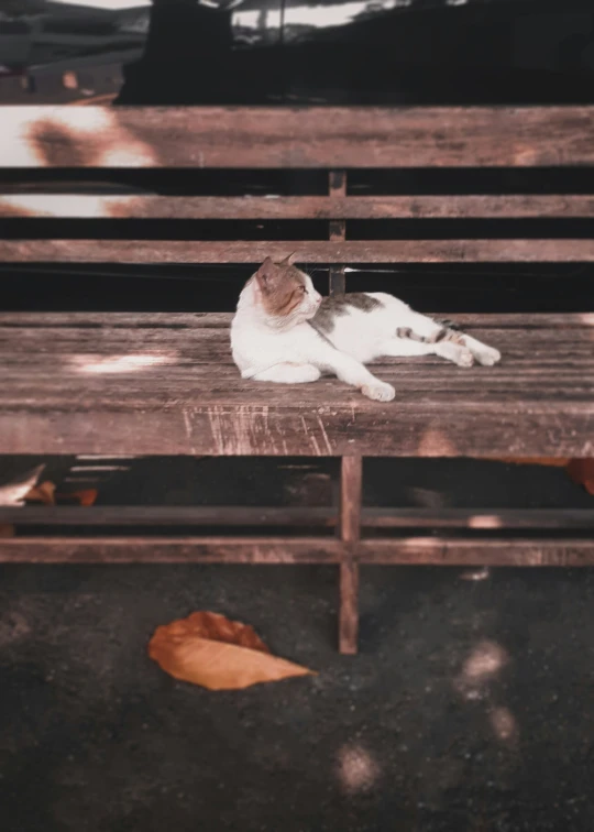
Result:
M4 107L2 134L6 167L594 164L587 106Z

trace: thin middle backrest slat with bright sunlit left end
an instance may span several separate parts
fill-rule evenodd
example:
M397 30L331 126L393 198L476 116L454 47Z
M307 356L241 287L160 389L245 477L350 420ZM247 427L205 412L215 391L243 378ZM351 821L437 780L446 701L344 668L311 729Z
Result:
M196 220L568 219L594 217L594 197L580 194L350 197L25 194L0 196L0 217Z

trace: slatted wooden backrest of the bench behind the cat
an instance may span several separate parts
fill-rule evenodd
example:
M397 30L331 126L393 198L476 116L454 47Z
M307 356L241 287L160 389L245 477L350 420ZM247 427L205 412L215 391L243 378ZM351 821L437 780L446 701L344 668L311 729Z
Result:
M0 186L0 216L20 217L31 226L21 239L0 240L2 262L257 263L298 249L302 262L333 264L331 285L341 291L346 263L594 261L594 240L583 236L358 240L346 233L349 220L594 217L594 196L583 193L356 196L348 187L353 168L592 166L594 107L6 107L0 117L0 168L28 168L26 186L14 179L14 171L12 182ZM47 193L55 190L51 177L59 179L74 168L317 168L328 172L328 193L113 195L89 193L92 187L81 193L84 184L72 176L72 193ZM40 222L43 217L51 226ZM72 218L96 219L94 239L68 239ZM107 218L314 219L329 225L327 240L302 242L139 241L121 239L112 223L103 232L100 223Z

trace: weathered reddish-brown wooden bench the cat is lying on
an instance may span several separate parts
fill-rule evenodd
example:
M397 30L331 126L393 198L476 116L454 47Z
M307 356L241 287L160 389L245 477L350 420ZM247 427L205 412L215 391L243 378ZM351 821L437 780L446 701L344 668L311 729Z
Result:
M344 289L349 263L592 262L593 239L351 240L350 219L594 217L592 195L352 196L351 168L559 167L594 163L594 108L112 109L3 108L1 165L30 168L0 197L28 239L0 241L14 263L258 263L298 251ZM64 167L320 168L328 195L197 197L47 191ZM40 179L31 184L31 172ZM80 172L81 177L84 171ZM43 178L42 178L43 174ZM323 219L328 241L68 239L69 218ZM38 218L55 229L38 232ZM397 294L397 286L394 287ZM453 300L452 300L453 303ZM455 310L452 310L455 313ZM438 359L376 366L396 401L371 402L334 379L279 387L243 382L228 314L0 314L0 453L326 456L341 458L340 508L3 508L19 534L7 562L337 563L340 647L356 650L360 563L594 563L594 512L363 510L362 460L594 455L594 314L451 315L501 349L492 369ZM73 514L75 512L76 514ZM31 525L58 534L26 533ZM61 525L299 526L315 537L68 536ZM414 535L398 535L413 526ZM383 529L369 537L365 529ZM362 533L363 528L363 533ZM440 534L433 534L433 529ZM547 536L547 529L556 534ZM429 530L428 530L429 529ZM336 533L334 533L336 532ZM503 535L502 532L506 532Z

